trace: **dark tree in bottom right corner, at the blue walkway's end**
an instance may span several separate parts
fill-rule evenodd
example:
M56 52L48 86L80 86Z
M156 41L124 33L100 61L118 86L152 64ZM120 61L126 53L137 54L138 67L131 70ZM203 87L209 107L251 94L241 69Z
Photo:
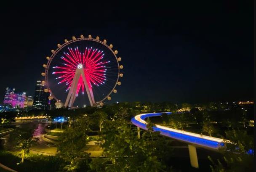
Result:
M219 148L224 156L224 162L211 160L212 172L253 172L254 142L253 137L246 132L229 130L226 132L225 146Z

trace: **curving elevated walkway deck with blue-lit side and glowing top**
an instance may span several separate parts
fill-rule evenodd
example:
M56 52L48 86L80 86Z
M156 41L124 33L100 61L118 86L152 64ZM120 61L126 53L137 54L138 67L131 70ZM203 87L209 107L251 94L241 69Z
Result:
M171 112L165 112L170 115ZM161 116L163 113L151 113L151 114L140 114L136 115L131 119L131 122L144 130L147 130L147 122L144 119L152 116ZM200 147L218 149L221 146L224 146L224 140L220 138L213 138L206 135L200 135L192 132L186 132L183 130L176 130L169 127L164 127L161 125L156 125L153 127L154 131L159 131L161 135L165 135L169 138L174 138L186 143L194 144Z

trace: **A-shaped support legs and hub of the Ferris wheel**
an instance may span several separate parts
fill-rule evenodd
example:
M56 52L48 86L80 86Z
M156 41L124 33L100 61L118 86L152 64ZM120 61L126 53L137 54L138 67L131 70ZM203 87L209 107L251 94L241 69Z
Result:
M74 79L72 81L72 85L69 89L69 93L67 95L67 99L66 99L65 104L64 104L65 107L68 106L69 108L72 108L72 106L75 102L75 98L77 97L77 93L76 93L77 92L77 85L78 85L80 77L82 77L82 79L83 79L83 83L85 85L85 90L86 90L86 93L88 95L88 99L89 99L89 102L90 102L91 106L95 105L93 90L92 90L91 87L89 87L88 82L86 80L83 64L78 64L77 69L75 71Z

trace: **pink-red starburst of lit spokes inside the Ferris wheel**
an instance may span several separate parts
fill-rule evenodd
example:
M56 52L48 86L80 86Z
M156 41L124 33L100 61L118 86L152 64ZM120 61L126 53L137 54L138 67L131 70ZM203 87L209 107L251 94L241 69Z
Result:
M70 89L78 64L83 64L85 68L85 79L90 90L92 90L91 84L99 86L105 83L106 69L105 66L102 65L109 63L109 61L102 61L104 56L104 54L102 54L103 51L93 49L92 47L85 48L83 54L79 51L78 47L76 47L75 50L72 48L68 48L68 50L70 54L64 53L66 58L61 57L61 59L67 62L67 64L64 63L65 66L54 67L55 69L58 69L58 71L54 71L53 74L60 75L56 79L61 78L61 81L58 84L65 82L67 85L67 90ZM85 85L83 83L83 79L80 77L78 80L76 93L78 94L80 90L82 93L84 93L84 88Z

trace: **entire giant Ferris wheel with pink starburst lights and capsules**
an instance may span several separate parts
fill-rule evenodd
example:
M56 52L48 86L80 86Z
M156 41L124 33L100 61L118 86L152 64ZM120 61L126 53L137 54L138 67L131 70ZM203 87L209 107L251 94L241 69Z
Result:
M73 36L57 46L46 57L45 72L41 73L45 77L44 92L50 92L49 100L54 98L69 108L78 99L87 99L91 106L103 106L104 100L110 101L123 77L121 57L117 57L117 50L112 50L113 45L107 45L107 40L101 41L98 36L94 39L81 34L80 38Z

